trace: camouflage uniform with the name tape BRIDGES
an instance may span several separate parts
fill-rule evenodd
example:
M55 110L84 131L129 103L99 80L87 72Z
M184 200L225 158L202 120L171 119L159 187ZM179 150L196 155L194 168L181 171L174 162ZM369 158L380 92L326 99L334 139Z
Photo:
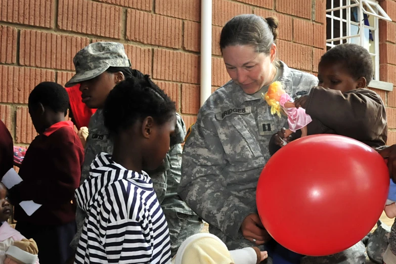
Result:
M283 62L281 68L278 80L292 97L318 83L314 75ZM207 99L189 132L179 194L230 250L254 246L240 227L248 214L257 213L256 186L270 158L269 142L286 125L286 117L272 115L265 101L229 81Z

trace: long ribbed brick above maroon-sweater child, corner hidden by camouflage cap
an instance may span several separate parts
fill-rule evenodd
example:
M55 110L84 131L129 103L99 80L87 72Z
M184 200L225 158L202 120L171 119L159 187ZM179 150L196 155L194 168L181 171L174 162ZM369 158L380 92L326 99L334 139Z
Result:
M21 30L19 63L74 71L73 57L89 43L87 37Z

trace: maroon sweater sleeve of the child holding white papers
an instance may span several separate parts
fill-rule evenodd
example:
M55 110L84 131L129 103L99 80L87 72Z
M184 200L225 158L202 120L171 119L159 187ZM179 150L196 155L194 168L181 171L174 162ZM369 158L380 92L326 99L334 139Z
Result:
M81 177L83 160L81 142L76 136L69 136L60 140L51 149L51 153L52 159L49 161L49 166L40 169L42 169L41 173L50 175L53 181L23 181L14 187L16 190L13 190L13 193L18 194L17 202L33 200L39 204L57 205L73 199Z

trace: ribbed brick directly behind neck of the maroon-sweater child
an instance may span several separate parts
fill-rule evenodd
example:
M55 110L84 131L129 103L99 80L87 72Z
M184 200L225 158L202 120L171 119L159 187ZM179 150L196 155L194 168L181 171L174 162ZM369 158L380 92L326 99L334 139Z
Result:
M30 144L38 135L32 124L27 107L17 108L16 143Z

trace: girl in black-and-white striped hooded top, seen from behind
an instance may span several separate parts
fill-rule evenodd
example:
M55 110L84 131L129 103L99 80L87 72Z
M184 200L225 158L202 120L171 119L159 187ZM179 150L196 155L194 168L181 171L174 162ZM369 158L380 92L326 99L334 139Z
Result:
M149 175L169 150L175 104L148 75L118 83L107 97L104 121L114 139L76 190L86 211L75 263L168 263L168 227Z

